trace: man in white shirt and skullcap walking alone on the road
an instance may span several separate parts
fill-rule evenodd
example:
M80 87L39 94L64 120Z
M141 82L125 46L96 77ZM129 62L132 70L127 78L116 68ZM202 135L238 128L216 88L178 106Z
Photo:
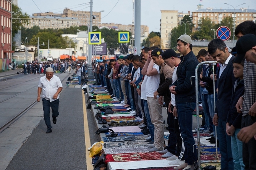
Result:
M53 75L52 67L46 69L45 77L41 77L39 80L38 90L37 90L37 101L40 101L40 95L43 90L43 110L44 110L44 121L47 126L46 133L52 132L52 126L50 122L50 107L52 107L52 122L56 124L59 112L59 96L58 94L62 91L62 83L60 79Z

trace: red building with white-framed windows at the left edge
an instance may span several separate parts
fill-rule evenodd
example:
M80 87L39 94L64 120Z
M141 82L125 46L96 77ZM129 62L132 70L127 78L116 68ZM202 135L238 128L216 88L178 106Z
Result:
M0 0L0 59L11 59L11 0Z

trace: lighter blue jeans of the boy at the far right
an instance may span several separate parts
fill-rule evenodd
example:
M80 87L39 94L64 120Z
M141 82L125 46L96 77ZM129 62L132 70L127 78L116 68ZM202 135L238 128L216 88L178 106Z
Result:
M237 134L240 130L241 129L236 129L233 136L231 136L231 148L235 170L245 169L245 164L243 164L243 142L237 138Z

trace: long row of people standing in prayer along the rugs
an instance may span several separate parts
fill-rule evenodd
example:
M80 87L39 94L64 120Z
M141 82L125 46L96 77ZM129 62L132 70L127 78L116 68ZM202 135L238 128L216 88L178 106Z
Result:
M141 55L103 60L96 66L97 82L106 87L114 101L129 106L135 119L143 119L140 127L148 134L147 142L152 148L149 151L164 153L162 157L175 160L169 164L179 164L176 169L193 168L198 160L192 132L196 84L200 87L204 113L200 130L211 134L207 138L210 143L217 141L221 169L256 169L255 23L242 22L236 27L235 35L238 41L232 50L216 38L209 42L207 50L202 49L195 56L191 37L184 34L177 40L178 54L172 49L145 47ZM202 64L198 69L199 82L195 82L191 77L202 61L218 63ZM166 148L164 104L168 107L170 132Z

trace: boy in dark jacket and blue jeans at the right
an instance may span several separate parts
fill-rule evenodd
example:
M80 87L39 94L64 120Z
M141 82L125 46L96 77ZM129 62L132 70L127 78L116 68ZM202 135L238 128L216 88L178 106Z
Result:
M231 148L233 162L235 163L235 169L245 169L243 164L243 143L238 140L237 134L241 130L241 113L237 112L235 105L238 99L245 93L244 83L243 83L243 65L244 61L241 63L233 63L233 73L235 78L238 78L232 89L232 99L230 102L230 107L227 115L226 133L231 136Z

